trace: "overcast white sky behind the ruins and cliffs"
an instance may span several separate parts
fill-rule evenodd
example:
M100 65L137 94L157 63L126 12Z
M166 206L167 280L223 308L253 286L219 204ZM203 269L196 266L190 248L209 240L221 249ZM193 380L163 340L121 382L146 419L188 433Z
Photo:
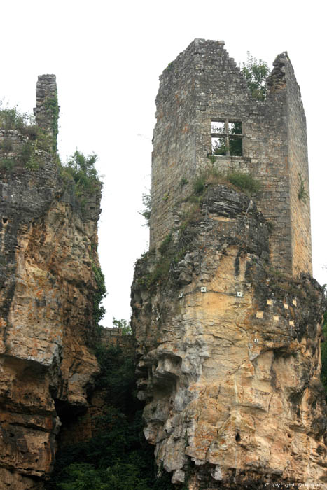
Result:
M249 50L271 66L288 51L307 114L314 276L327 283L325 31L316 0L303 7L279 0L1 2L0 99L31 111L37 76L55 73L60 155L76 148L99 155L104 325L129 318L134 261L147 249L138 211L150 182L158 77L194 38L223 39L237 62Z

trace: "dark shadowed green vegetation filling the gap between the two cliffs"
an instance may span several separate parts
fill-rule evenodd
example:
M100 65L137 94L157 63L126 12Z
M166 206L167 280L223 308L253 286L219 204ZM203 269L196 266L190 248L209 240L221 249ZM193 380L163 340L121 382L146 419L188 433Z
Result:
M97 346L95 384L105 395L95 437L57 452L47 490L173 490L171 475L156 478L153 447L144 440L135 397L134 357L120 346Z

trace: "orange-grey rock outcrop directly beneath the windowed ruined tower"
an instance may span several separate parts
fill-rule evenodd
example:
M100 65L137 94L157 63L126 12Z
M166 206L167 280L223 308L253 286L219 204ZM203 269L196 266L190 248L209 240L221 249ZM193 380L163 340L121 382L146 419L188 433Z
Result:
M183 488L327 484L323 294L270 265L255 202L209 186L137 262L132 327L145 435Z

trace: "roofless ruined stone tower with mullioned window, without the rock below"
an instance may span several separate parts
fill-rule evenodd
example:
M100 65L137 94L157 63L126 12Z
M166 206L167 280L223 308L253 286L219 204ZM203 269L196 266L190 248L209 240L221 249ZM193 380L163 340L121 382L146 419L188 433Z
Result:
M213 141L228 137L239 141L237 151L217 155L214 166L260 179L259 209L274 228L273 265L294 276L311 274L309 197L298 197L301 185L309 193L305 113L287 53L274 61L267 100L260 102L223 41L195 39L163 71L156 104L151 246L172 228L174 204L189 192L183 182L211 163Z

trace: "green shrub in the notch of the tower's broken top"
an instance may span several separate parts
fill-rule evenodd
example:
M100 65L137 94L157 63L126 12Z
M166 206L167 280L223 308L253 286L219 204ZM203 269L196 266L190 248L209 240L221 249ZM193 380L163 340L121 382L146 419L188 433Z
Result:
M265 100L267 95L267 78L270 69L262 59L256 59L247 53L246 63L242 63L240 69L254 99Z

